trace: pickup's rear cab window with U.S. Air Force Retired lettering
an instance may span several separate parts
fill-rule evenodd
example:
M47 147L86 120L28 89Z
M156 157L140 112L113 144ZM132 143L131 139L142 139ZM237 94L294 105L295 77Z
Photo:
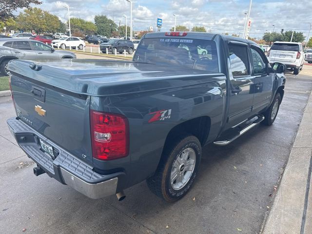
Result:
M174 65L209 72L219 71L215 42L210 40L143 39L137 48L134 61Z

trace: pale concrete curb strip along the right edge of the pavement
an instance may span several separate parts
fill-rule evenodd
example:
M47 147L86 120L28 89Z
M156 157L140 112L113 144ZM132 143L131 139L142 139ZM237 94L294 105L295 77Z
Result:
M312 93L262 234L312 233L311 167Z

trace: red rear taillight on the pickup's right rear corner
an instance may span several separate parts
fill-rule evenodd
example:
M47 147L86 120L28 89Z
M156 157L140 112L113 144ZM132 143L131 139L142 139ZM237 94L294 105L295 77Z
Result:
M128 119L122 115L91 110L92 155L112 160L129 154Z

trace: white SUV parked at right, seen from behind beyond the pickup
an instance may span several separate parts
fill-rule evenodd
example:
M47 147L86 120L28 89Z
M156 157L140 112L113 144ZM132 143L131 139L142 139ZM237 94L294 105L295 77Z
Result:
M275 41L268 54L271 64L274 62L283 63L287 68L293 69L294 75L298 75L302 70L304 57L300 42Z

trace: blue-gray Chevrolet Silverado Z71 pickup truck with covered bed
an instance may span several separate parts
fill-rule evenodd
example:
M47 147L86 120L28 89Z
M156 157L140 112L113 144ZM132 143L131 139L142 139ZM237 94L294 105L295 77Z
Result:
M10 61L7 123L36 176L119 200L146 179L172 202L192 187L204 145L273 123L285 69L250 40L148 33L133 61Z

